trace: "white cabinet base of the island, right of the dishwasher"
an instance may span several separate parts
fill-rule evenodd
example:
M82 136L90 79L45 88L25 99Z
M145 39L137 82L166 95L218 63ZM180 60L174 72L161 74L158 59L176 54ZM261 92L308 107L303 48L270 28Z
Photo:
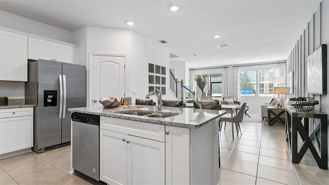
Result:
M219 184L219 119L200 128L100 119L100 180Z

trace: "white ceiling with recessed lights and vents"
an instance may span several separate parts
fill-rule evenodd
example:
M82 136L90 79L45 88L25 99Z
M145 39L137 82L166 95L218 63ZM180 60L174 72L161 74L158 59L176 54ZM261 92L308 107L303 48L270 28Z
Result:
M286 60L320 2L1 0L0 9L69 31L130 29L178 56L171 61L200 68ZM174 4L176 12L169 10Z

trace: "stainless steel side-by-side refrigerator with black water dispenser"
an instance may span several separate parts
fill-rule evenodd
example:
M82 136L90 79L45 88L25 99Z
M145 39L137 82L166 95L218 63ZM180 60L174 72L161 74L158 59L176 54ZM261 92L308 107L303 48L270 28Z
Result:
M29 62L25 103L35 105L33 151L69 144L67 108L86 106L86 67L41 59Z

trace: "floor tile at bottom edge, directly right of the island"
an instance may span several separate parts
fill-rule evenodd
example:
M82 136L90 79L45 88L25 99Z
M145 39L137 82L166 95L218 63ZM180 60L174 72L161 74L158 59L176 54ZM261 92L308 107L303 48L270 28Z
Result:
M255 184L256 177L222 169L220 172L220 184Z

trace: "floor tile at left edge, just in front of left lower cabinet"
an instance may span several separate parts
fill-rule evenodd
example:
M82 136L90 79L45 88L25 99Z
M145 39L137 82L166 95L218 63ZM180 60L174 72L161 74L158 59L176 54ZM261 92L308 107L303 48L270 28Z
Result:
M36 159L36 157L34 157L34 152L29 152L29 153L9 157L6 159L1 159L0 166L3 169L6 169L6 168L13 167L13 166L19 165L19 164L23 164L25 162L29 162L29 161L35 160L35 159Z

